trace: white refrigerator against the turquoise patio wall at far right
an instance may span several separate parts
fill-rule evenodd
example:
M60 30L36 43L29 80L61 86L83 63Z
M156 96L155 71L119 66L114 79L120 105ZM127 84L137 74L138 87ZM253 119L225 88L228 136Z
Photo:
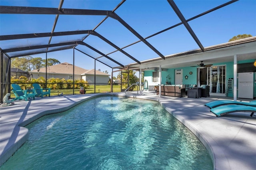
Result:
M253 99L253 72L238 73L238 98Z

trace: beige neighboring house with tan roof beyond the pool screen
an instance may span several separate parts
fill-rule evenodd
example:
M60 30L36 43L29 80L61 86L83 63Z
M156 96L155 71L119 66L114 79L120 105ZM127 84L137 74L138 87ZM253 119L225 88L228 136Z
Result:
M46 67L29 71L32 74L32 78L45 77ZM109 75L101 71L96 70L96 84L106 85L108 84ZM47 67L47 79L50 78L64 78L66 80L73 79L73 65L70 63L60 63ZM81 67L74 66L74 79L84 79L88 83L94 83L94 69L87 70Z

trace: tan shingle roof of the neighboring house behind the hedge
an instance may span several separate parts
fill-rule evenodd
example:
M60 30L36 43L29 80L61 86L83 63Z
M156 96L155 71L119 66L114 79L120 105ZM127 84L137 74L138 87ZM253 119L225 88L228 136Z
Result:
M40 69L35 69L32 71L29 71L30 73L45 73L46 67L42 67ZM73 74L73 65L67 62L51 65L47 67L47 73L59 73L59 74ZM94 74L94 69L83 69L78 66L74 66L74 74L76 75L86 75L86 74ZM96 75L108 75L106 73L103 73L101 71L96 70Z

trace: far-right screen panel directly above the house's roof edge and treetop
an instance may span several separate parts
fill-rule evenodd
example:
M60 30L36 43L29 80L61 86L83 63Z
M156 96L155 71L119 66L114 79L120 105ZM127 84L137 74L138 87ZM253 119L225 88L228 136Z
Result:
M202 1L202 4L208 5L209 2L207 2ZM210 2L216 3L218 1ZM240 0L192 20L189 24L205 47L226 43L233 36L239 34L256 36L255 9L256 1ZM252 15L253 13L254 15ZM250 18L250 22L248 22L248 18Z

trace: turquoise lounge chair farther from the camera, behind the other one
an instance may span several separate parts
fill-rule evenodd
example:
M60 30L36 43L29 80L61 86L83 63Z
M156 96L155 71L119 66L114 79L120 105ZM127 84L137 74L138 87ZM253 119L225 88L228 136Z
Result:
M243 101L232 101L232 100L216 100L206 103L205 106L210 109L222 106L222 105L245 105L245 106L256 106L256 101L243 102Z

